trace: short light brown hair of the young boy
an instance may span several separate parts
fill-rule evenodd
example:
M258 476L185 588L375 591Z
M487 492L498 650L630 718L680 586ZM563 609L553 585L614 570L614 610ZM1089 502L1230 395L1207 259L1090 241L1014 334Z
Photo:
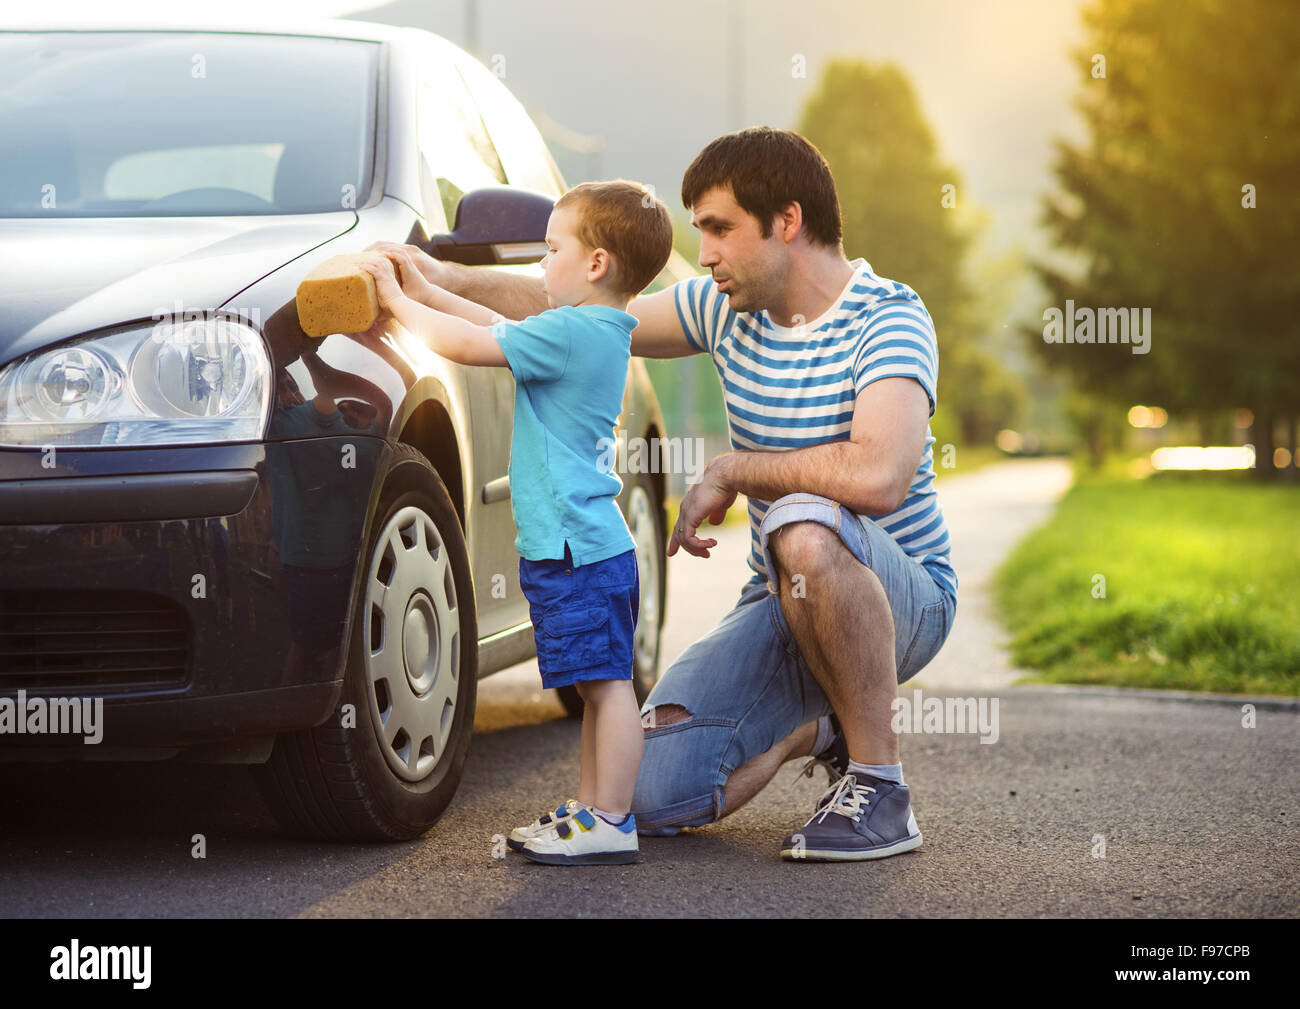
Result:
M582 182L555 202L577 209L577 239L610 254L619 294L637 295L659 276L672 252L672 216L640 182Z

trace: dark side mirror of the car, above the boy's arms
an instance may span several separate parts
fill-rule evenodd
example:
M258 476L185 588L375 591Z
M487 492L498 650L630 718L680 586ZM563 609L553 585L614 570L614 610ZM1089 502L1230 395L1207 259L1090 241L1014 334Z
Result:
M460 198L451 234L425 244L434 259L469 267L536 263L546 255L546 225L555 200L541 192L493 186Z

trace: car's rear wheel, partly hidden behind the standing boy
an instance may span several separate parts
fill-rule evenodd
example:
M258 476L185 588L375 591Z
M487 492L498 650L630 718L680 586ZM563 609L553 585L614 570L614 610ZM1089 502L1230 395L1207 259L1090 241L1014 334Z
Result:
M647 473L637 473L636 482L628 493L625 518L632 541L636 544L637 575L641 580L641 610L637 614L637 629L632 645L636 657L632 685L637 692L637 703L644 703L659 679L659 642L663 637L668 589L663 503ZM582 698L577 688L562 687L556 693L564 710L573 718L581 718Z

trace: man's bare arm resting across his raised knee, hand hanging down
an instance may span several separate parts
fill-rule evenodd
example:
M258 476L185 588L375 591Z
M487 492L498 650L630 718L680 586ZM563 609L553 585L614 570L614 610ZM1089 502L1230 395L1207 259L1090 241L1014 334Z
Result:
M913 378L880 378L858 395L849 441L790 451L733 451L715 456L681 502L668 555L677 545L707 557L712 541L696 536L705 518L737 493L759 501L806 491L862 515L883 515L907 497L926 446L930 398ZM719 516L720 520L720 516Z

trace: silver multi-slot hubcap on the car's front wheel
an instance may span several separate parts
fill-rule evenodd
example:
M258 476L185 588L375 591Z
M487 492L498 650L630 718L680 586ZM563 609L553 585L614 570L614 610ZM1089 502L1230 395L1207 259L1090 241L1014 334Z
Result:
M365 583L370 720L393 771L428 776L451 736L460 679L460 612L438 527L406 507L380 533Z

